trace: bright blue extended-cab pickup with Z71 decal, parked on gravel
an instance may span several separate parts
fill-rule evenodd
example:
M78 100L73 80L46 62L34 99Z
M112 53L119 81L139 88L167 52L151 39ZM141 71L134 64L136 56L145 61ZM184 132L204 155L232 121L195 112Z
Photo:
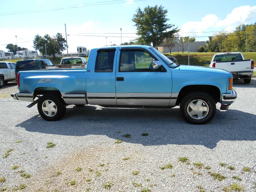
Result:
M172 108L180 106L192 124L212 120L236 99L232 74L226 70L171 62L151 46L111 46L92 49L87 69L22 71L15 100L37 104L48 121L60 120L66 106ZM86 110L86 108L85 108Z

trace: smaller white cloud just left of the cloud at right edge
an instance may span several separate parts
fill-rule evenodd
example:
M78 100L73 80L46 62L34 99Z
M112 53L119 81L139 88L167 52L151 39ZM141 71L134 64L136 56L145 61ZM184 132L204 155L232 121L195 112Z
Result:
M190 21L186 22L181 26L182 36L188 35L183 34L184 32L202 32L210 27L213 27L218 21L218 17L215 14L207 14L202 18L201 21Z

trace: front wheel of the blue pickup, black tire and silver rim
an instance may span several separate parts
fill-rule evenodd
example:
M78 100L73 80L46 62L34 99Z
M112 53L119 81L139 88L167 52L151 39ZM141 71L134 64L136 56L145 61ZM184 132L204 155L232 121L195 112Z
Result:
M193 106L197 107L195 109L193 108L193 110L191 108ZM202 112L202 116L198 115L200 111ZM182 117L191 124L206 124L214 117L216 104L213 98L205 92L191 92L182 98L180 112ZM196 112L197 114L193 115Z

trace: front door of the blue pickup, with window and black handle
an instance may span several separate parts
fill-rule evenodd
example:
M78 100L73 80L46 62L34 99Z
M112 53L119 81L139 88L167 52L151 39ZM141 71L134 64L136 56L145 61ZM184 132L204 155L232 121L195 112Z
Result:
M153 70L157 59L146 49L121 48L116 65L116 102L126 106L168 106L172 75L164 66Z

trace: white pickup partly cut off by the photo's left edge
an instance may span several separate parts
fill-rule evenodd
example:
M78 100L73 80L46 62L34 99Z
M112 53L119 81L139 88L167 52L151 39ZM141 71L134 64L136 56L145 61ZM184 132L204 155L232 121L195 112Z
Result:
M13 62L0 62L0 87L10 80L16 80L15 67Z

